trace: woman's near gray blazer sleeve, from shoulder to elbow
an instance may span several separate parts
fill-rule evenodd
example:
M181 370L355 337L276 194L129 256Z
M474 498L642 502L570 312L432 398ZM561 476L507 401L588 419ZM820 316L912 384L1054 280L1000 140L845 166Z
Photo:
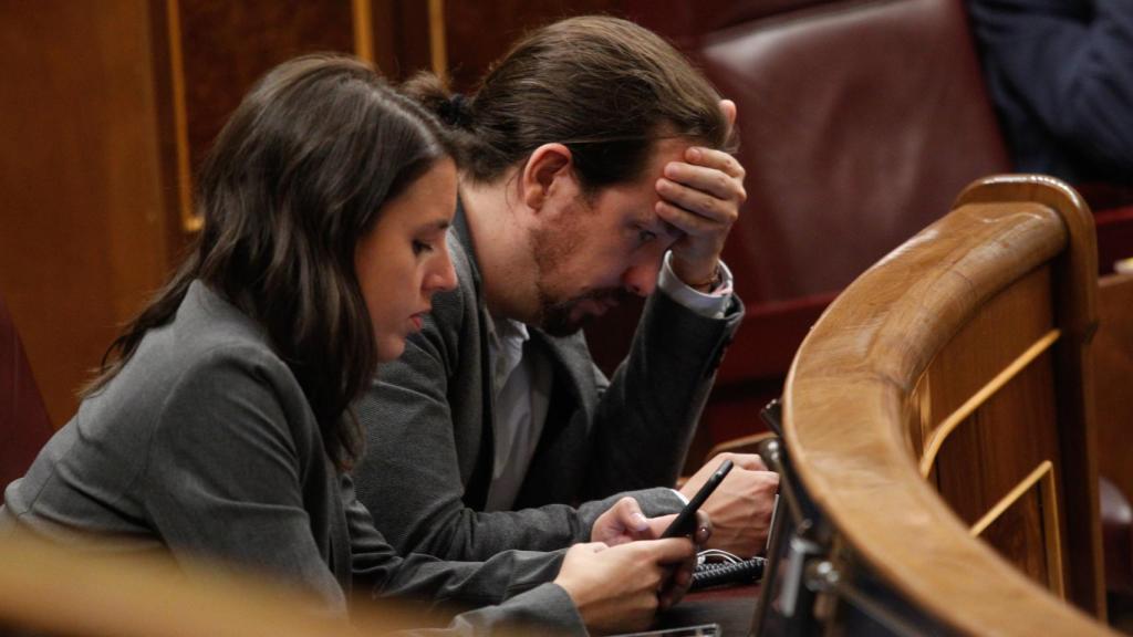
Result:
M287 377L256 348L191 365L163 401L136 489L173 555L238 564L344 610L301 486L309 464L325 460L313 457L317 431L288 417L304 399L297 384L282 389Z

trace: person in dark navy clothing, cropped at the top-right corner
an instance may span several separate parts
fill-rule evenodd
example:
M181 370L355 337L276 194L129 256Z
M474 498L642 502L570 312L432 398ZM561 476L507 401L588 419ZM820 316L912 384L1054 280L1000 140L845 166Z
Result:
M969 0L1015 168L1133 185L1133 2Z

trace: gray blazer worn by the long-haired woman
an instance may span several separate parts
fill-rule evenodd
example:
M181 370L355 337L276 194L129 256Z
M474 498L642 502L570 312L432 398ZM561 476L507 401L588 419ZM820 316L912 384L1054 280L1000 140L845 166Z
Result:
M499 604L458 617L454 634L516 623L585 632L565 591L547 584L560 554L509 552L485 563L399 557L330 462L303 390L266 334L199 281L5 499L0 526L15 520L60 541L94 534L100 549L229 560L312 589L339 612L359 587Z

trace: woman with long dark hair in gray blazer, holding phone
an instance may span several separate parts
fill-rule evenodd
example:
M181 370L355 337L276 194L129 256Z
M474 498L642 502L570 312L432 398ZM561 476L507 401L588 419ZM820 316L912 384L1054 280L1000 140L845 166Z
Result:
M340 612L352 588L487 606L457 618L459 631L637 628L665 563L684 564L666 600L679 595L687 540L399 558L355 500L350 404L421 328L433 292L455 286L444 135L356 60L300 58L265 76L203 167L195 250L7 489L0 526L225 560Z

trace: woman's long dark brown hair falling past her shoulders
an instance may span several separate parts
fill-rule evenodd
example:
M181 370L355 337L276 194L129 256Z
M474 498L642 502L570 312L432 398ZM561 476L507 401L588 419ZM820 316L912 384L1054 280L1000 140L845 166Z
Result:
M199 279L266 329L327 453L348 468L361 440L348 407L377 363L355 248L383 203L450 155L433 116L369 66L334 56L280 65L245 96L201 169L204 229L193 253L110 346L84 397L173 318Z

